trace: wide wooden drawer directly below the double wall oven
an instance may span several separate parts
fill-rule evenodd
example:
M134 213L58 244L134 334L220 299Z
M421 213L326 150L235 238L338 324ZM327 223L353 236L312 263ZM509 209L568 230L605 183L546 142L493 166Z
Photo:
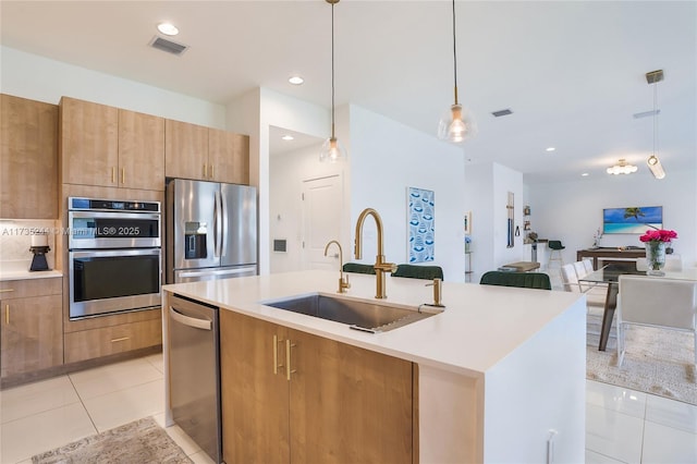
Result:
M161 319L65 333L65 364L162 343Z

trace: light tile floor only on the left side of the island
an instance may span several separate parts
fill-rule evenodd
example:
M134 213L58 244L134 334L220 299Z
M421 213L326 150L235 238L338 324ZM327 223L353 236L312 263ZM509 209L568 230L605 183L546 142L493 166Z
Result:
M0 463L32 456L152 416L164 427L162 355L111 364L0 392ZM212 461L178 426L166 428L194 463Z

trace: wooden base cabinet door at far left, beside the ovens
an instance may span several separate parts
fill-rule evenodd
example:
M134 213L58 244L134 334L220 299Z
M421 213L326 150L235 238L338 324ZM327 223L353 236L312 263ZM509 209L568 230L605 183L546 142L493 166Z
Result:
M3 300L1 376L63 363L62 296Z

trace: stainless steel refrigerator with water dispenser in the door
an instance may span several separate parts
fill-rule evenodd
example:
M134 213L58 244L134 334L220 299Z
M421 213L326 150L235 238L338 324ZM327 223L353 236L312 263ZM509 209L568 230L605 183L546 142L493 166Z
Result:
M257 191L171 179L167 184L167 283L257 274Z

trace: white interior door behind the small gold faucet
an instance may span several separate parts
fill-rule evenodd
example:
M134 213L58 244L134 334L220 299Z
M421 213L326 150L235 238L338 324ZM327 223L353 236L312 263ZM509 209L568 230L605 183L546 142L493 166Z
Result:
M339 249L332 245L325 257L325 246L341 241L342 210L341 175L303 182L303 269L339 270Z

